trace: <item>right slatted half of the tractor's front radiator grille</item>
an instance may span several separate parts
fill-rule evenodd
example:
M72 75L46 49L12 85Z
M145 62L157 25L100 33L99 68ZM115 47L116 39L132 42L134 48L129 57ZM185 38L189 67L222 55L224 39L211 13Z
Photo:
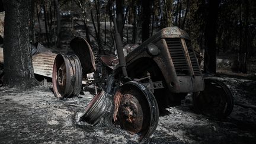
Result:
M194 75L195 76L201 75L196 55L194 54L193 48L191 46L191 41L186 39L185 43L186 43L186 46L187 46L187 49L188 49L188 55L190 56L190 60L191 60L191 64L192 64L192 67L193 67Z

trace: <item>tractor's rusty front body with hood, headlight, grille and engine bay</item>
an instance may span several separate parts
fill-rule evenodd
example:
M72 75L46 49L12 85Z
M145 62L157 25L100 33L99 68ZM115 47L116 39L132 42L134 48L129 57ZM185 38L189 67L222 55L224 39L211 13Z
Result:
M188 34L178 27L164 28L126 56L130 78L145 85L159 108L180 105L188 92L204 89L203 76ZM114 75L120 75L114 69Z

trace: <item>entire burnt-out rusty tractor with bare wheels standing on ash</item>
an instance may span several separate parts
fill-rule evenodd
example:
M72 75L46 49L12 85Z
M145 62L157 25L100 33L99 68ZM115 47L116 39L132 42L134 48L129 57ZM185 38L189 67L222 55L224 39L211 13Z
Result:
M115 29L117 31L117 27ZM155 131L159 109L180 105L188 93L193 93L199 111L208 107L209 111L204 113L217 111L210 115L221 117L231 113L231 92L221 82L209 79L204 82L190 37L180 28L160 30L140 46L130 49L125 57L118 33L116 45L118 61L114 56L98 56L95 64L91 47L82 38L71 41L78 57L58 55L55 59L53 89L57 97L78 95L82 78L87 79L91 72L102 89L85 108L81 121L93 125L114 121L143 139ZM212 94L211 90L219 93ZM216 103L211 105L210 98L205 99L208 95Z

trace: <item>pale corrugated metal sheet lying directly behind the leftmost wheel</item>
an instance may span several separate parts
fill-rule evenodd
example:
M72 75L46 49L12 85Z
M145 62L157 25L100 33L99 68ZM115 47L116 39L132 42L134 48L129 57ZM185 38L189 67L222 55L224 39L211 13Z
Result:
M49 52L32 56L34 73L52 78L53 63L56 55Z

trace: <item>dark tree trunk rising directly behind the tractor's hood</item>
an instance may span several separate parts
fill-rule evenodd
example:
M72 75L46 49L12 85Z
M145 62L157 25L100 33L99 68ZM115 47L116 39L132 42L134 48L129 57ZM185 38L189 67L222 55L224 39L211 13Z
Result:
M142 1L142 42L149 38L153 0Z

